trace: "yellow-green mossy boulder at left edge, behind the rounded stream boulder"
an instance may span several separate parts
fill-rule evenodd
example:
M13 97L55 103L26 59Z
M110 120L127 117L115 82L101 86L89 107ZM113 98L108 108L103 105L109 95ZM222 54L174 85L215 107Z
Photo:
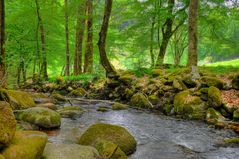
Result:
M27 109L36 106L30 94L23 91L1 89L0 100L10 103L14 110Z

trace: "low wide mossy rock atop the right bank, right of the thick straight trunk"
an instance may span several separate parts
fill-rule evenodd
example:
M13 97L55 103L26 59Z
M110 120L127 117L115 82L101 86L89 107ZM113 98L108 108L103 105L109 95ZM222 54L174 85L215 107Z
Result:
M209 77L209 76L203 76L201 78L201 82L203 85L211 87L217 87L218 89L222 89L224 86L224 82L217 77Z

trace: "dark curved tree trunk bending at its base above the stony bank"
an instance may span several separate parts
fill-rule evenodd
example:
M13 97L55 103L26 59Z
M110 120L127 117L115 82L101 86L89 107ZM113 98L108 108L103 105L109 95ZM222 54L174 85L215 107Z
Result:
M107 31L109 27L111 10L112 10L112 0L105 0L104 18L103 18L103 23L101 26L101 31L99 33L100 38L98 41L98 47L100 52L101 64L105 68L107 77L117 76L115 68L114 66L111 65L110 61L108 60L108 57L105 51L105 42L106 42Z

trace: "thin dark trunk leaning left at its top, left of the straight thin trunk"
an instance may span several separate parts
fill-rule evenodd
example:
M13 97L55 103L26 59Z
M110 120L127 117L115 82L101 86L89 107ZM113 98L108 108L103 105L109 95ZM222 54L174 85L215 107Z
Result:
M44 80L48 80L48 75L47 75L47 54L46 54L46 49L45 49L45 31L44 31L44 25L43 21L40 15L40 6L38 4L38 0L35 0L36 3L36 8L37 8L37 16L38 16L38 22L39 22L39 29L41 33L41 50L42 50L42 64L41 64L41 75L43 76Z

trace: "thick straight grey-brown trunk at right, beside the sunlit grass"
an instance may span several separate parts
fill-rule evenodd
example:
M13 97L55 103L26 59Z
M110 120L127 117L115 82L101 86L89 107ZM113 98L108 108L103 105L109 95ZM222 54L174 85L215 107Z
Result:
M197 11L198 0L191 0L189 5L189 23L188 23L188 66L197 66Z

